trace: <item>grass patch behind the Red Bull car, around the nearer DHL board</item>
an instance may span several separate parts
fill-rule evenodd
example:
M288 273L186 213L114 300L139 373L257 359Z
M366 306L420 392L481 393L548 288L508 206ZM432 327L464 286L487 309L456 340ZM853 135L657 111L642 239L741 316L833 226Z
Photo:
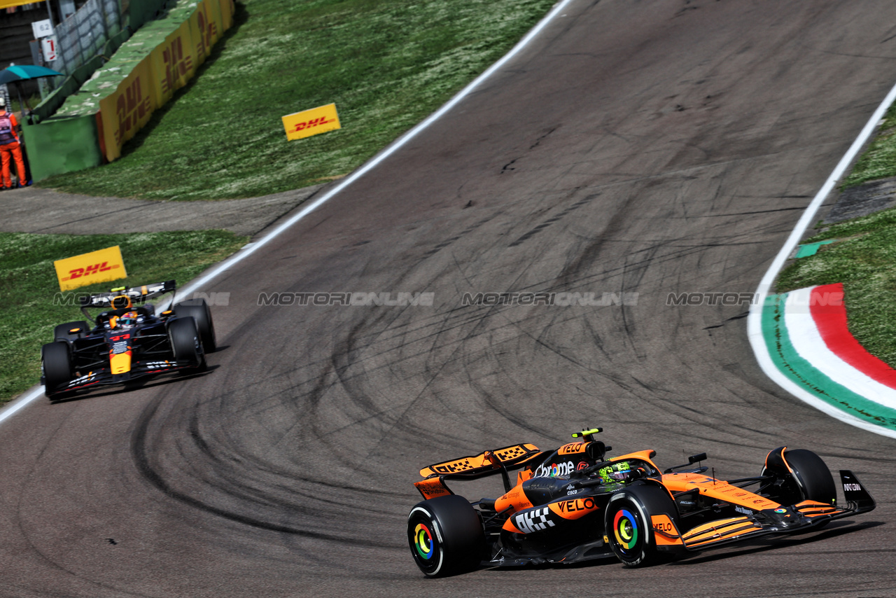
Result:
M84 319L79 308L54 301L59 289L54 261L103 247L121 247L128 277L85 286L75 291L79 293L171 279L185 284L247 240L226 230L128 235L0 233L0 403L38 384L40 346L53 340L53 327Z

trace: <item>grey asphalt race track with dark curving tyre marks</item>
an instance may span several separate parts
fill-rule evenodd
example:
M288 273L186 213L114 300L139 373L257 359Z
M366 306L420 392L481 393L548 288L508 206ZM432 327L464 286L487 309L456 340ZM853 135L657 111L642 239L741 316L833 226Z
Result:
M40 400L0 426L0 595L896 595L892 439L764 377L747 306L668 305L753 292L893 82L892 2L574 1L203 289L230 293L207 375ZM362 291L433 304L259 305ZM462 305L478 292L632 305ZM809 448L878 507L656 568L419 574L420 467L591 426L660 466L705 451L721 478Z

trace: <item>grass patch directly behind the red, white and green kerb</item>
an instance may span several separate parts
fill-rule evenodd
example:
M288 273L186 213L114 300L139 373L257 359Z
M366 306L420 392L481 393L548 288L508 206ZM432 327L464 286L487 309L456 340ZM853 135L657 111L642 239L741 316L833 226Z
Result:
M780 274L778 292L842 282L849 331L896 367L896 209L834 224L803 242L829 238L838 240Z

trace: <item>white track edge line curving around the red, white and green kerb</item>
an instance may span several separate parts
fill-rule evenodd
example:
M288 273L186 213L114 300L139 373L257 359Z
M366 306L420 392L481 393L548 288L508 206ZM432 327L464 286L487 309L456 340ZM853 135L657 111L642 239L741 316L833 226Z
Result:
M852 163L852 160L855 160L858 152L861 151L871 134L874 133L874 129L883 118L887 109L890 108L893 100L896 100L896 84L894 84L890 92L887 93L880 106L874 110L874 114L868 119L866 126L858 134L856 140L849 146L849 150L843 154L840 162L838 162L837 166L831 172L831 176L828 177L822 188L819 189L818 193L814 196L812 202L806 207L806 212L803 212L803 216L797 221L797 226L790 232L790 236L784 243L784 247L781 247L778 255L772 260L768 271L762 276L762 281L756 289L754 301L750 306L750 315L747 316L746 320L746 334L750 341L750 346L753 348L754 356L759 362L759 367L762 368L765 375L770 377L775 384L788 391L788 393L793 394L797 399L804 403L808 403L815 409L827 413L844 423L856 426L857 428L866 429L875 434L896 438L896 431L869 424L848 413L841 412L839 409L831 407L828 403L824 403L816 398L813 394L806 391L806 389L798 386L788 377L784 376L771 360L769 349L765 344L765 337L762 335L762 308L765 306L765 299L769 295L772 283L775 282L781 268L784 267L784 263L787 262L788 257L793 252L794 248L797 247L800 239L803 238L803 234L806 232L806 229L809 228L809 224L814 221L815 214L822 207L827 196L831 193L831 189L837 184L837 181L840 180L840 177L843 176L846 169L849 168L849 164Z

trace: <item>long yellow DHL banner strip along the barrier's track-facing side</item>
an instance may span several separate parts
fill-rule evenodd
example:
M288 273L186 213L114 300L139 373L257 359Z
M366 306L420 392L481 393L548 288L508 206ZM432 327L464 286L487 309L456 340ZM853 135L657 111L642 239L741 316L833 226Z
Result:
M194 12L154 48L115 92L99 101L99 146L117 160L122 145L196 74L223 32L233 24L233 0L201 0Z

